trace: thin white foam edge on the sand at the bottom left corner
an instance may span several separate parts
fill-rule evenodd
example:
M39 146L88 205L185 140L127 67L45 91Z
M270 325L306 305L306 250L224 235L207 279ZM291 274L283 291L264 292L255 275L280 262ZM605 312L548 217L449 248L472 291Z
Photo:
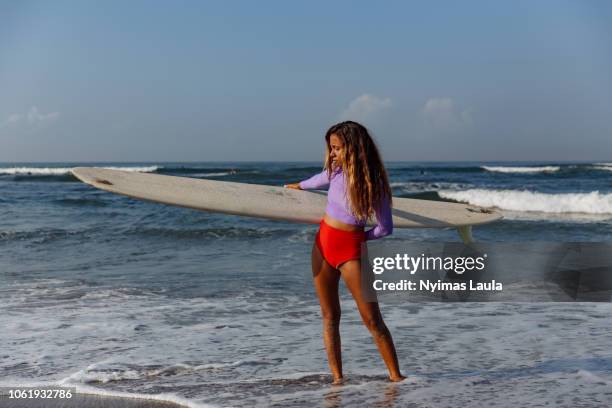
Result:
M141 394L133 392L121 392L121 391L107 391L100 388L92 387L89 385L83 385L79 383L73 383L69 379L62 379L57 382L0 382L0 387L3 388L50 388L50 387L74 387L76 388L77 394L88 394L100 397L115 397L115 398L134 398L140 400L154 400L160 402L170 402L173 404L183 405L189 408L213 408L214 405L203 404L196 401L191 401L186 398L180 397L171 393L161 394Z

